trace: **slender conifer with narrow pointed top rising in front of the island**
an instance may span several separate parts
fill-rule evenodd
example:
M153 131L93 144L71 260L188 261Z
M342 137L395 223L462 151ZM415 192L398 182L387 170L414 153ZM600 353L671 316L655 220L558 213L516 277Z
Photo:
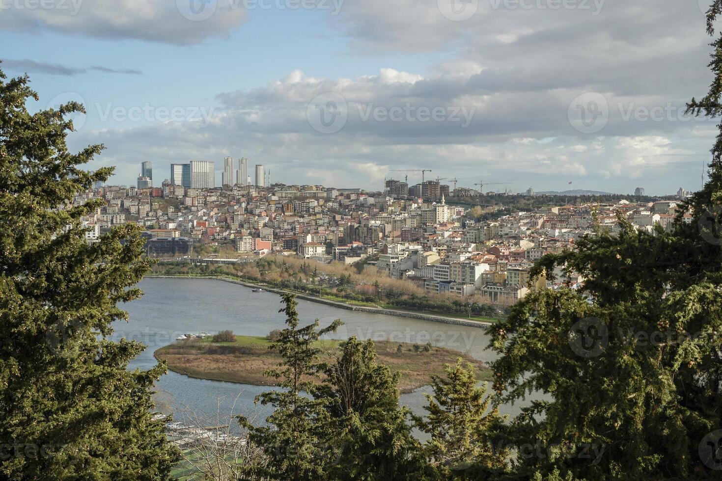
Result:
M313 394L320 377L321 363L318 338L335 332L342 325L336 320L318 329L318 319L313 324L299 327L298 312L293 294L284 294L287 327L280 332L276 342L269 348L282 356L279 369L266 373L283 390L264 392L256 397L261 405L274 407L266 419L268 425L255 427L246 418L240 424L249 430L249 441L265 451L269 458L263 472L253 475L272 480L321 480L328 459L336 456L336 445L326 444L324 429L329 424L328 412L323 400L315 400ZM303 393L307 393L304 395Z

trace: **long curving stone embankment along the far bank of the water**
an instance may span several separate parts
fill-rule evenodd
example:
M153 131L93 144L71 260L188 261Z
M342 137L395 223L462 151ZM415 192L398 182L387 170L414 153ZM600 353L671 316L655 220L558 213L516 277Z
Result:
M356 306L355 304L347 304L341 301L331 301L330 299L323 299L323 297L311 296L310 294L300 294L295 291L286 291L285 289L277 289L264 286L262 284L255 284L246 281L239 281L238 279L226 277L223 275L168 275L168 274L149 274L145 275L144 278L168 278L168 279L212 279L214 281L225 281L233 284L248 288L262 288L264 291L273 292L275 294L285 294L290 292L295 294L298 299L305 301L316 302L318 304L326 304L327 306L334 306L340 309L346 309L347 311L367 312L370 314L384 314L387 316L406 317L409 319L421 319L432 322L442 322L444 324L451 324L457 326L467 327L480 327L482 329L488 329L493 326L493 322L487 321L476 321L473 319L460 319L456 317L445 317L437 314L425 314L422 312L405 311L402 309L384 309L383 307L368 307L368 306Z

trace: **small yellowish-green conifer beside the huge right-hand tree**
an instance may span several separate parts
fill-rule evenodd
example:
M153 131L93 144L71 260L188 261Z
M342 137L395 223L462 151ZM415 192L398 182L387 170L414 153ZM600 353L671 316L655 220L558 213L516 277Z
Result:
M493 438L503 419L490 409L486 388L477 387L474 366L459 358L455 366L445 366L445 377L432 376L431 387L427 418L417 418L417 425L430 436L424 453L435 477L450 479L472 465L503 468L508 451Z

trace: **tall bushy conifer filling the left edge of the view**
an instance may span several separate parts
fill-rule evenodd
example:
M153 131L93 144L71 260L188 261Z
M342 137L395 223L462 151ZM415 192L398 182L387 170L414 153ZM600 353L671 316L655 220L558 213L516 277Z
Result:
M88 244L73 203L113 169L79 168L100 154L72 154L64 116L27 111L38 101L23 76L0 71L0 477L166 479L177 459L152 421L151 389L164 372L127 371L140 343L106 337L127 319L116 304L141 295L148 270L135 226Z

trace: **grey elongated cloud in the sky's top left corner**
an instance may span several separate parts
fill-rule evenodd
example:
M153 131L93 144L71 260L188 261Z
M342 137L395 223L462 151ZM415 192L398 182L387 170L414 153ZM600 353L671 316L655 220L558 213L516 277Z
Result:
M225 37L242 24L247 14L240 5L236 0L50 0L31 9L6 2L0 29L191 45Z

